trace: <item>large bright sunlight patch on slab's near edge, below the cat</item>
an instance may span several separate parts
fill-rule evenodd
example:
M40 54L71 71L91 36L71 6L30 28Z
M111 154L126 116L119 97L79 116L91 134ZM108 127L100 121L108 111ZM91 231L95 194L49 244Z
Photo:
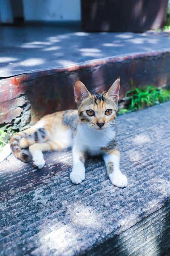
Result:
M74 211L68 208L66 215L71 220L66 225L62 221L49 221L48 223L45 221L42 225L42 229L38 233L40 243L38 251L41 255L48 253L47 248L56 250L62 255L63 253L70 255L75 251L75 248L78 250L78 247L82 248L83 244L89 243L88 240L85 240L86 235L83 235L84 233L89 234L89 236L95 233L96 239L99 237L104 218L102 215L99 216L94 209L79 201L78 205L75 203ZM81 243L78 246L79 239L81 239ZM36 251L37 249L33 253Z

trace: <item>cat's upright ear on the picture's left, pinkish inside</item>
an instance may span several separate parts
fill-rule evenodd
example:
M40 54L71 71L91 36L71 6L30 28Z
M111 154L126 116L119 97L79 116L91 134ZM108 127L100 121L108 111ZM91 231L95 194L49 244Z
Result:
M89 97L91 94L87 90L86 86L80 82L77 81L74 86L74 96L75 96L75 101L78 105L81 104L82 100Z

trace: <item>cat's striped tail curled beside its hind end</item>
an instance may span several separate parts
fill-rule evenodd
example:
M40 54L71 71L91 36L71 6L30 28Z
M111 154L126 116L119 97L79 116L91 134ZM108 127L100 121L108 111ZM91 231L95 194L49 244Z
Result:
M31 161L31 157L22 149L20 146L21 139L25 138L26 134L24 132L19 132L14 134L10 139L10 148L14 156L21 161L28 163Z

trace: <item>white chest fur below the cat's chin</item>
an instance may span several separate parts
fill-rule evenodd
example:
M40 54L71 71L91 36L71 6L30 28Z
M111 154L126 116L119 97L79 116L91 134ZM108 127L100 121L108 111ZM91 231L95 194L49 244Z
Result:
M115 131L111 128L106 128L102 131L87 130L81 124L78 124L74 144L80 150L88 151L91 155L98 155L101 153L101 147L106 147L114 137Z

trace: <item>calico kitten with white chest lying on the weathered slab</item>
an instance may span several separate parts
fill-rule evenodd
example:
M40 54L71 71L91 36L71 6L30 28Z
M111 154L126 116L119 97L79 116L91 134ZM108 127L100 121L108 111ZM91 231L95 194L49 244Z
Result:
M31 128L13 135L10 148L23 162L29 162L24 148L29 147L33 164L45 165L43 151L73 147L70 179L79 184L85 179L86 155L102 155L113 185L127 186L127 177L119 169L120 152L115 140L120 79L103 93L91 94L77 81L74 88L77 110L66 110L44 116Z

